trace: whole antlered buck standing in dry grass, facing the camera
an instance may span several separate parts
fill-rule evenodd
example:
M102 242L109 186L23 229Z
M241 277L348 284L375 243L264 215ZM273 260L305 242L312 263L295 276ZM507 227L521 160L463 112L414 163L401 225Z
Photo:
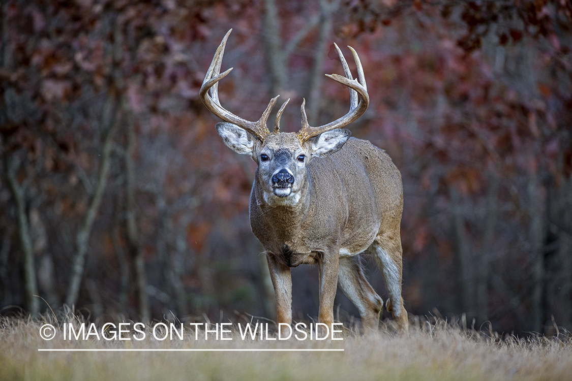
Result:
M351 137L343 127L362 116L370 102L362 63L349 47L358 78L335 45L344 77L327 74L350 93L350 110L322 126L308 124L305 99L301 129L280 131L280 118L290 99L276 114L273 131L268 117L272 98L258 121L247 121L221 106L218 82L227 32L215 52L200 89L206 108L223 120L215 128L230 149L256 162L249 200L252 232L264 247L276 294L277 323L292 324L291 268L317 264L320 323L331 326L337 285L358 308L366 331L379 328L383 300L364 275L361 255L371 253L382 271L386 309L403 332L408 330L402 298L400 222L403 185L399 170L384 150Z

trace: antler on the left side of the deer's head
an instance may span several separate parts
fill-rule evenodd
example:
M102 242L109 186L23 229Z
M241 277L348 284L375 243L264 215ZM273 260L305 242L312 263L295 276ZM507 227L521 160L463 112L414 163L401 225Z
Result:
M260 119L256 122L247 121L243 118L237 117L237 115L231 113L230 111L223 108L220 105L219 101L219 81L226 77L228 73L231 72L233 69L228 69L224 73L220 73L220 66L223 62L223 54L224 54L224 47L227 44L228 36L231 34L232 29L227 32L224 36L223 41L220 43L219 47L215 52L215 57L213 57L213 61L210 63L209 70L206 72L205 79L202 81L201 86L201 99L202 103L205 104L206 108L210 110L211 113L215 114L217 117L223 119L225 122L233 123L239 127L242 127L244 130L247 130L249 133L255 135L260 140L264 140L264 138L270 134L268 131L268 127L266 123L268 121L268 116L270 115L270 111L272 107L276 104L276 100L278 97L272 98L270 103L268 103L268 107L260 117ZM286 101L281 107L280 111L284 110L285 104L288 103ZM281 114L281 113L280 113ZM276 121L276 126L279 125L280 119L278 118Z

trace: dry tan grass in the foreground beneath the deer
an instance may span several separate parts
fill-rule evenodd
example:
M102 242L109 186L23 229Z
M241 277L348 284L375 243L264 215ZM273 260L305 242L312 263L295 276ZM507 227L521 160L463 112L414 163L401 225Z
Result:
M414 324L409 334L362 336L345 330L343 340L196 340L188 327L180 340L46 341L44 318L0 320L0 380L572 380L572 336L518 339L463 330L436 320ZM69 323L68 323L69 324ZM75 322L76 328L78 322ZM100 326L101 328L101 326ZM148 332L149 333L149 332ZM63 351L63 349L332 349L334 351Z

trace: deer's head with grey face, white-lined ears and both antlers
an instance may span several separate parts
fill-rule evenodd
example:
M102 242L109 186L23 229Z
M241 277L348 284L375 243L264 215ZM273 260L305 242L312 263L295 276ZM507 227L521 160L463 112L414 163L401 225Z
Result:
M220 73L224 48L231 31L232 29L223 38L210 63L201 86L202 102L213 114L223 119L224 122L217 123L216 130L225 145L236 153L251 155L258 164L256 180L264 192L264 199L268 203L297 203L300 190L307 181L306 166L309 161L315 157L327 157L341 149L351 135L349 130L343 127L358 119L367 110L369 97L362 64L356 51L349 47L358 68L359 81L353 79L344 55L336 45L345 77L337 74L329 74L327 77L349 87L350 109L343 117L323 126L312 127L308 124L304 100L301 105L301 129L297 133L281 133L280 118L290 100L288 99L280 107L271 132L268 130L267 121L278 96L271 99L258 121L247 121L220 105L218 82L232 70L231 68Z

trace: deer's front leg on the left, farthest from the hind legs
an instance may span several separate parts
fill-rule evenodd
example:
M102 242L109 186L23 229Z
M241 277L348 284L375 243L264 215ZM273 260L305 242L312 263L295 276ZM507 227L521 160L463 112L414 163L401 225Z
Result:
M292 275L290 268L277 260L271 252L266 253L266 259L276 294L277 323L292 324Z

